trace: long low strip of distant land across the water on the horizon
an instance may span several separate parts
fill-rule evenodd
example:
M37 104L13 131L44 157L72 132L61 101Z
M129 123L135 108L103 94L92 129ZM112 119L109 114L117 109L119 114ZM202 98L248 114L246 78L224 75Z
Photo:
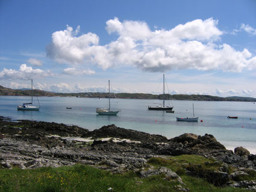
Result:
M61 96L61 97L77 97L77 98L108 98L108 93L54 93L43 90L33 90L34 96ZM1 96L31 96L31 90L27 89L11 89L0 85ZM163 94L149 93L116 93L119 99L163 99ZM112 97L113 94L112 94ZM166 98L173 100L189 100L189 101L246 101L256 102L256 98L249 97L218 97L203 94L166 94Z

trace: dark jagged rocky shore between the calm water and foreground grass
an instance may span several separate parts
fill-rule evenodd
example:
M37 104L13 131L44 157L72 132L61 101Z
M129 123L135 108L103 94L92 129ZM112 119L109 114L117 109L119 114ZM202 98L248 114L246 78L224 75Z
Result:
M243 147L226 150L213 135L183 134L167 139L115 125L89 131L78 126L59 123L16 120L0 117L0 167L36 169L87 164L113 173L128 170L141 177L164 174L189 191L182 179L166 167L149 165L151 158L168 159L178 155L201 155L214 159L204 166L219 166L218 170L202 169L200 164L181 164L188 175L207 178L217 186L232 186L256 190L256 155ZM210 162L210 161L209 161Z

